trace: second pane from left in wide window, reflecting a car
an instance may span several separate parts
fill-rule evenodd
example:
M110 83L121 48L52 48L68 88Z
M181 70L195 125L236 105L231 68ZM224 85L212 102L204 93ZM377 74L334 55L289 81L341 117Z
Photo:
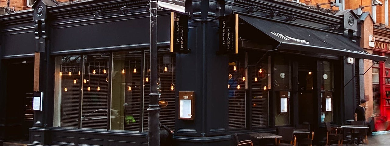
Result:
M108 59L101 53L83 56L82 128L107 129Z

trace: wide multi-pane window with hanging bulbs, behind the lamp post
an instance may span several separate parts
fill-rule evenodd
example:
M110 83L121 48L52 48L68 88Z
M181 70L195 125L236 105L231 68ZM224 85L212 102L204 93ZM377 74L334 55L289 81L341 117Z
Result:
M158 64L160 122L174 129L175 57L159 51ZM149 80L147 51L59 56L54 126L147 131Z

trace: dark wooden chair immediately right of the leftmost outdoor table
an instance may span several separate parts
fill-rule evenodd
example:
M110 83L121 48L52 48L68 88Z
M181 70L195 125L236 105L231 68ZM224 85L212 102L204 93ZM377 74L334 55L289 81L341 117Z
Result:
M277 142L277 146L295 146L296 137L293 128L278 128L278 135L282 136ZM289 141L290 143L283 143ZM282 142L282 143L280 143Z

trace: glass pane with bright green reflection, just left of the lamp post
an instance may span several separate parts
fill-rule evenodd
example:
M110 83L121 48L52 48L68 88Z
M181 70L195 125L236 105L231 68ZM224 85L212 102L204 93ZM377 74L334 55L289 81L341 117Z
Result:
M140 51L113 53L111 129L139 131L142 105Z

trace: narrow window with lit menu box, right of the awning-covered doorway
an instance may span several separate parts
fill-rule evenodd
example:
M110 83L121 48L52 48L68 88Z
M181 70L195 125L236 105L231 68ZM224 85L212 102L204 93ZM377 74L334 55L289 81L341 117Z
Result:
M322 122L331 122L333 121L333 101L335 100L334 95L334 70L333 63L327 61L319 61L317 73L321 76L321 105L326 106L322 107L323 112L321 113Z

